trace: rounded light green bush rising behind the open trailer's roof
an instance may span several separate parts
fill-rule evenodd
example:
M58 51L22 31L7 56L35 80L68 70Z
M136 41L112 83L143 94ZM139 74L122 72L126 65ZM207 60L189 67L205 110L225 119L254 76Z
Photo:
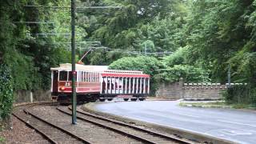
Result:
M158 87L158 82L153 77L158 74L158 70L162 66L157 58L153 57L126 57L118 59L110 64L112 70L142 70L145 74L150 74L150 94L154 95Z

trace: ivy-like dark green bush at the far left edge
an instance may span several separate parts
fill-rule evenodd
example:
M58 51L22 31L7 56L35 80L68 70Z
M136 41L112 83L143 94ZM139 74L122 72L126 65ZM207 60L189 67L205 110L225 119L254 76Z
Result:
M8 118L14 102L13 83L10 69L0 64L0 120Z

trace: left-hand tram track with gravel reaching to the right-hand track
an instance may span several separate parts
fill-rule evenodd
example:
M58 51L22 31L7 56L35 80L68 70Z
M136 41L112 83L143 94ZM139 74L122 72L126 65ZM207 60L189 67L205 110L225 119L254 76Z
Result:
M32 126L30 127L37 130L50 143L142 143L123 134L91 125L89 122L78 120L77 125L71 125L71 117L56 110L56 106L23 106L18 111L15 111L15 115L25 119L24 122L31 124ZM26 120L26 117L30 118L30 120ZM43 124L34 122L36 121L34 119ZM66 136L59 135L62 133L66 134Z

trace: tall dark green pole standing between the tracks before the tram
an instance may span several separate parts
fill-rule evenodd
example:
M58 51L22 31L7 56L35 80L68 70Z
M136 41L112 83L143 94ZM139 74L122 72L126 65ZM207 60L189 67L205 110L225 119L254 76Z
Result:
M75 10L75 0L71 0L71 59L72 59L72 124L77 123L77 114L76 114L76 104L77 104L77 96L76 96L76 88L75 88L75 39L74 39L74 10Z

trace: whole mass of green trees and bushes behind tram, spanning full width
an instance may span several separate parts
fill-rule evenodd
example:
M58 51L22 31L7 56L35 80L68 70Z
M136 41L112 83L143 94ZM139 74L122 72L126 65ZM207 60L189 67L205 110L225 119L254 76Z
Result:
M38 33L70 33L70 11L25 5L70 6L70 1L0 2L0 59L10 68L14 89L49 89L50 67L70 62L70 37ZM77 5L122 6L77 10L77 52L90 47L81 41L97 40L110 47L92 51L86 64L113 62L111 68L143 70L154 81L183 77L187 82L222 83L230 65L231 82L250 83L252 90L256 85L255 0L80 0ZM174 54L141 56L145 51Z

